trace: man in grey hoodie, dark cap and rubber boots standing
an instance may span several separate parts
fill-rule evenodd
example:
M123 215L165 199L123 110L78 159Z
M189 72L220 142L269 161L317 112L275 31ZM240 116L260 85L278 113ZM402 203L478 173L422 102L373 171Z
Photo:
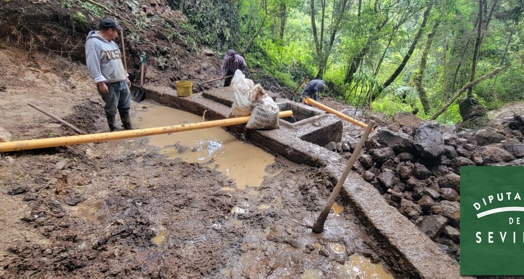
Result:
M85 41L85 62L105 102L105 116L111 131L116 129L117 110L124 129L133 129L129 115L131 82L122 64L122 53L114 41L122 30L113 19L102 19L99 30L89 32Z

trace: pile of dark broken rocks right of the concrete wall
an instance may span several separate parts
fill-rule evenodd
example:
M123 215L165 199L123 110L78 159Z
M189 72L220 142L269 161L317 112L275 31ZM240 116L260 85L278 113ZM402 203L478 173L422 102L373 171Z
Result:
M366 141L354 169L441 248L457 255L460 167L522 165L524 121L520 120L524 119L459 133L453 126L422 122L411 114L397 114L394 119L394 124L377 129ZM326 148L333 146L351 154L356 140L330 143Z

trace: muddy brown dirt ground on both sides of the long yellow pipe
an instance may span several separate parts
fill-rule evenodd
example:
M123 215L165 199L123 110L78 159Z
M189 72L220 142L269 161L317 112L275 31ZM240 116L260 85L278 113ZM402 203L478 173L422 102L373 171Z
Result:
M83 65L12 48L0 59L9 61L0 65L0 126L14 140L72 135L28 101L82 129L106 129ZM133 109L144 106L156 105ZM291 220L312 222L327 199L333 185L318 169L277 157L259 187L223 191L236 183L209 163L168 160L149 143L2 154L0 278L353 279L372 266L354 253L380 261L351 208L337 210L322 235Z

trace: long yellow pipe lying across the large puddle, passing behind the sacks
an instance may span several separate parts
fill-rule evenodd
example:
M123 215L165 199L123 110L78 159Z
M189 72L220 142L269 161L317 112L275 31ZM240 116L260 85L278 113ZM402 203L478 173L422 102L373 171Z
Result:
M293 116L293 111L280 111L280 118ZM207 122L198 122L191 124L181 124L156 128L145 128L136 130L124 130L116 132L92 133L90 135L68 136L49 139L33 139L0 142L0 152L20 151L37 148L48 148L58 146L71 146L73 144L81 144L97 141L119 140L127 138L138 138L146 136L161 135L163 133L175 133L190 130L207 129L213 127L225 127L238 124L245 124L249 120L249 116L227 118L220 120L213 120Z

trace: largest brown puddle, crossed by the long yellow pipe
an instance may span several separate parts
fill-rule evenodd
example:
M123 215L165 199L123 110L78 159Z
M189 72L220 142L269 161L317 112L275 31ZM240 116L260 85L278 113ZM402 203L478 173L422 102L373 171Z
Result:
M151 107L135 117L138 128L151 128L201 122L202 116L170 107ZM162 149L169 159L182 158L185 162L207 163L235 180L238 189L258 187L269 174L266 166L275 163L275 157L260 148L244 143L222 128L185 131L170 135L149 137L149 143ZM173 144L187 147L180 154Z

